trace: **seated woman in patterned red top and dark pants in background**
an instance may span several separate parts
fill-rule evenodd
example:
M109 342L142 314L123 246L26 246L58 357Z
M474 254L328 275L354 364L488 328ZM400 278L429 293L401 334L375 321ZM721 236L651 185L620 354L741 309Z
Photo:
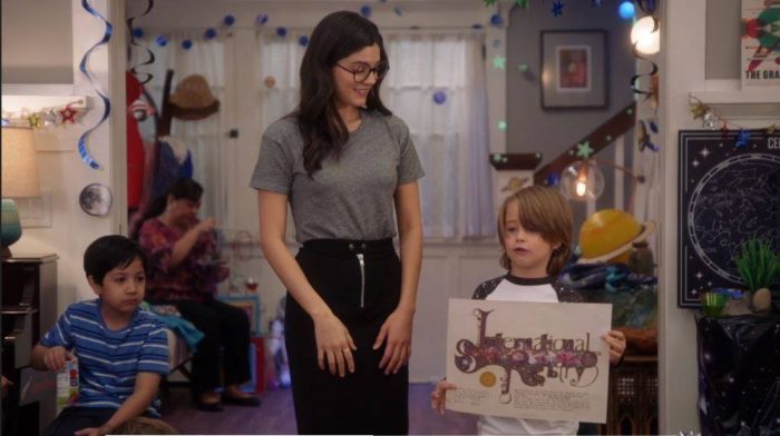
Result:
M142 219L137 239L149 255L147 300L175 306L205 335L193 356L192 385L198 408L220 412L223 404L259 406L257 397L238 388L251 378L250 320L243 310L215 298L216 285L230 270L216 256L214 218L196 218L202 195L203 187L196 181L178 179ZM221 361L222 397L216 393Z

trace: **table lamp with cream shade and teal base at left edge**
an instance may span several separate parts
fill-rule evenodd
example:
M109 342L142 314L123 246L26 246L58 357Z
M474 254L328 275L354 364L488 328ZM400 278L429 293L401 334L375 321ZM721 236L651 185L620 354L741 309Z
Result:
M21 237L19 211L13 198L38 197L38 156L32 129L2 128L2 257L10 257L9 246Z

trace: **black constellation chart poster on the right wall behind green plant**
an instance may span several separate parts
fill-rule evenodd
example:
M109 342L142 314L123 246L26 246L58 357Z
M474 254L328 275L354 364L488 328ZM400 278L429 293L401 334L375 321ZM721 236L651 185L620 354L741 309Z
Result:
M734 257L750 238L780 251L780 132L680 131L677 306L742 288Z

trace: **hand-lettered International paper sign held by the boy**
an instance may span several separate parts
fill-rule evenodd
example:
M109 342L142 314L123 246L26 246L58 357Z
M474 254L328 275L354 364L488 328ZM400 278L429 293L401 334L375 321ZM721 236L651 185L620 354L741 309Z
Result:
M606 422L612 305L450 299L447 408Z

